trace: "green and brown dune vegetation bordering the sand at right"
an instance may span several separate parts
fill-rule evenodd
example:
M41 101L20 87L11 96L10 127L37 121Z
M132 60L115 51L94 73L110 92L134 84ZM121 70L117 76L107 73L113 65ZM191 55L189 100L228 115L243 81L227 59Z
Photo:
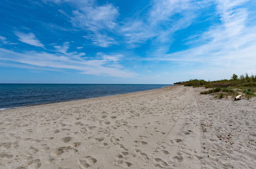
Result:
M189 81L176 82L174 85L213 88L200 94L213 94L216 98L220 99L228 98L229 96L235 97L239 94L244 95L248 99L256 97L256 75L249 76L247 73L239 77L233 74L229 80L205 81L203 79L191 79Z

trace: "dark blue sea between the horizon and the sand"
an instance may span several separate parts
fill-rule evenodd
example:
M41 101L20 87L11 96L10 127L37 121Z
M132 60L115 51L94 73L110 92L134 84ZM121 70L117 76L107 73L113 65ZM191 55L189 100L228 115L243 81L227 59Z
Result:
M170 85L5 84L0 83L0 110L68 100L160 89Z

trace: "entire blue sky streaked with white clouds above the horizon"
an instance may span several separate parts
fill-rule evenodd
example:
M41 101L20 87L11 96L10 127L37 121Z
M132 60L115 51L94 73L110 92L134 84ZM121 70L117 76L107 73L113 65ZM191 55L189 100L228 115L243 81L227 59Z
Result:
M256 73L254 0L2 0L0 15L0 83Z

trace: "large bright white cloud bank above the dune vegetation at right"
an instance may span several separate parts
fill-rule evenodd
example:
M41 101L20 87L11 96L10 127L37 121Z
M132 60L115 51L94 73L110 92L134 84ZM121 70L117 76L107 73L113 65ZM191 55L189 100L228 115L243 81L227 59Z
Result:
M243 74L247 70L255 70L256 66L256 26L248 26L248 11L243 6L246 1L216 1L217 13L221 16L221 24L211 27L203 34L191 39L196 42L190 49L154 55L149 60L173 61L178 64L195 65L189 74L214 74L227 76L232 71ZM250 72L249 72L250 73Z

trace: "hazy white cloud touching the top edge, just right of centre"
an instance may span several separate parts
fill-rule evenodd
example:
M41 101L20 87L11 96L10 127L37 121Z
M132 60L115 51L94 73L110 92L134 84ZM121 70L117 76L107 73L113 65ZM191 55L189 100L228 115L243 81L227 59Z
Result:
M208 0L202 2L188 0L155 0L146 14L131 19L122 26L122 33L126 36L126 43L136 47L154 38L154 47L169 48L172 34L187 28L198 16L198 10L205 8ZM176 17L179 15L180 17Z

